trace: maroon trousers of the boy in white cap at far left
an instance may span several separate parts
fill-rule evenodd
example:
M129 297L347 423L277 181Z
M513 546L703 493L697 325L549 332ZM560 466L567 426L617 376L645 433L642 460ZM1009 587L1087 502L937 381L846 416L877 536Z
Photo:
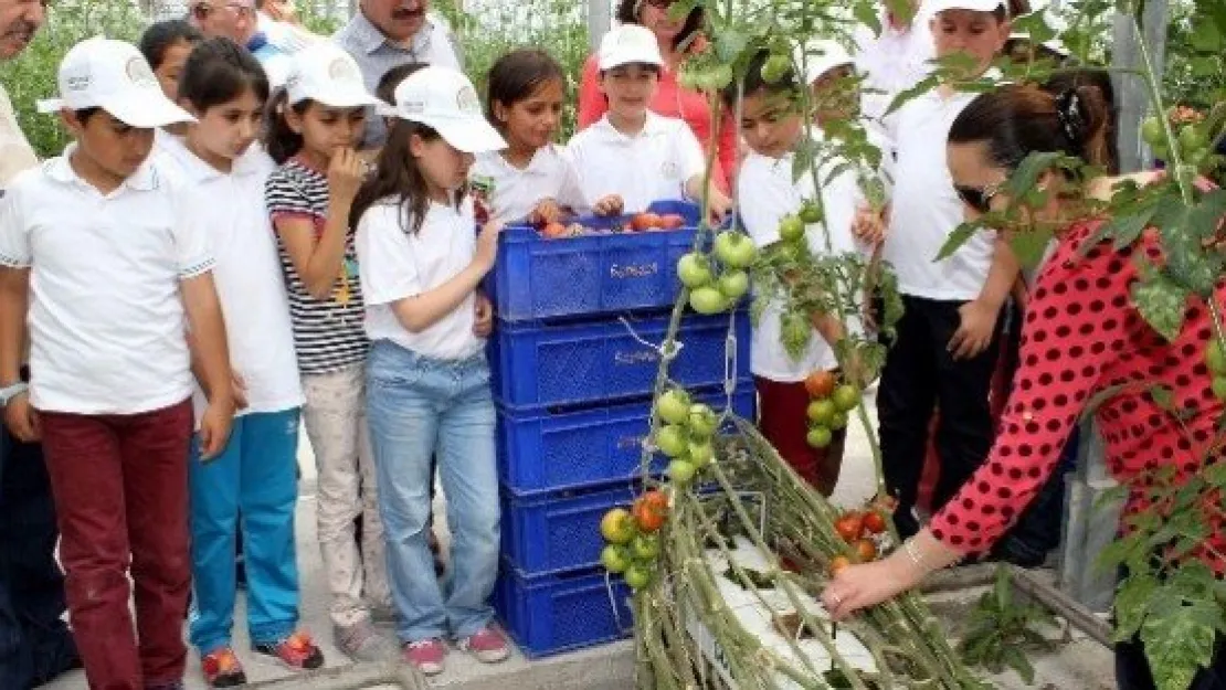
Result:
M72 635L89 688L143 690L180 680L191 588L191 403L131 415L44 412L39 422Z

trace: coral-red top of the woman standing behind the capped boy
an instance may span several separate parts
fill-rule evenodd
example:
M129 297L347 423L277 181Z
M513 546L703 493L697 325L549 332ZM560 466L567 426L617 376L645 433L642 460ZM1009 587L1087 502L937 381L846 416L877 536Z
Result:
M579 129L585 129L596 120L600 120L608 112L608 100L600 86L600 65L596 55L587 58L584 64L584 74L579 82ZM694 131L694 136L702 143L702 151L711 147L711 107L705 93L682 88L677 83L677 72L663 69L660 72L660 86L656 97L651 100L651 112L666 118L685 120ZM725 192L728 191L728 180L734 176L733 169L737 164L737 126L732 119L732 112L723 108L723 116L720 119L717 132L715 181Z

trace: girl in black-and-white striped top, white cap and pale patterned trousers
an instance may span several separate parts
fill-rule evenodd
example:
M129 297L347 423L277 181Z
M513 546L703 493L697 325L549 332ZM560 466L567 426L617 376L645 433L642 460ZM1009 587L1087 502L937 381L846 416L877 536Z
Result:
M332 594L329 614L336 646L359 661L391 653L363 599L365 593L391 607L364 404L369 342L349 232L349 210L367 172L357 147L374 103L348 53L321 43L294 55L287 88L268 109L267 150L281 167L265 189L289 288L306 393L303 419L319 469L316 518Z

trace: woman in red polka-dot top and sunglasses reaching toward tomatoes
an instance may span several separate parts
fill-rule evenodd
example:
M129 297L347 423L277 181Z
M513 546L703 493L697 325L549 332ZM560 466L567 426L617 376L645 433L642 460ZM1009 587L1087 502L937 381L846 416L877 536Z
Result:
M1100 162L1107 116L1094 87L1053 96L1035 87L1007 86L978 97L949 135L949 168L967 213L1008 207L1003 183L1030 153L1064 151ZM1032 221L1063 229L1035 284L1022 330L1021 364L992 452L954 500L904 548L839 572L823 593L823 603L836 619L911 588L928 572L966 555L986 553L1035 498L1100 391L1125 386L1095 412L1108 468L1122 483L1162 464L1173 464L1187 477L1208 455L1222 413L1203 362L1213 335L1208 309L1189 300L1183 331L1167 342L1130 299L1138 260L1161 261L1156 235L1146 232L1118 251L1110 240L1089 246L1103 221L1073 221L1085 192L1072 189L1057 173L1045 174L1040 184L1048 191L1048 203L1034 212ZM1098 186L1087 192L1110 194L1110 180L1100 180ZM1226 298L1226 289L1219 290L1219 299ZM1148 392L1151 386L1173 391L1175 404L1184 412L1182 423L1155 403ZM1130 485L1125 514L1146 507L1141 488ZM1226 553L1221 532L1209 543L1217 554ZM1198 555L1219 574L1226 571L1220 555L1208 550ZM1144 656L1135 647L1117 650L1119 688L1152 688ZM1224 656L1215 664L1224 667L1219 673L1226 678ZM1203 673L1193 688L1226 689L1215 678Z

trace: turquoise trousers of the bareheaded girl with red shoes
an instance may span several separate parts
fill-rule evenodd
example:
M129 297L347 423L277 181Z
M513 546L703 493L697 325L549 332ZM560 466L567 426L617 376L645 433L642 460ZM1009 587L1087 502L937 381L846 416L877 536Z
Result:
M243 532L246 624L253 643L272 643L298 626L299 409L234 418L222 455L200 461L191 445L191 643L207 654L230 643L235 534ZM242 525L239 514L242 512Z

